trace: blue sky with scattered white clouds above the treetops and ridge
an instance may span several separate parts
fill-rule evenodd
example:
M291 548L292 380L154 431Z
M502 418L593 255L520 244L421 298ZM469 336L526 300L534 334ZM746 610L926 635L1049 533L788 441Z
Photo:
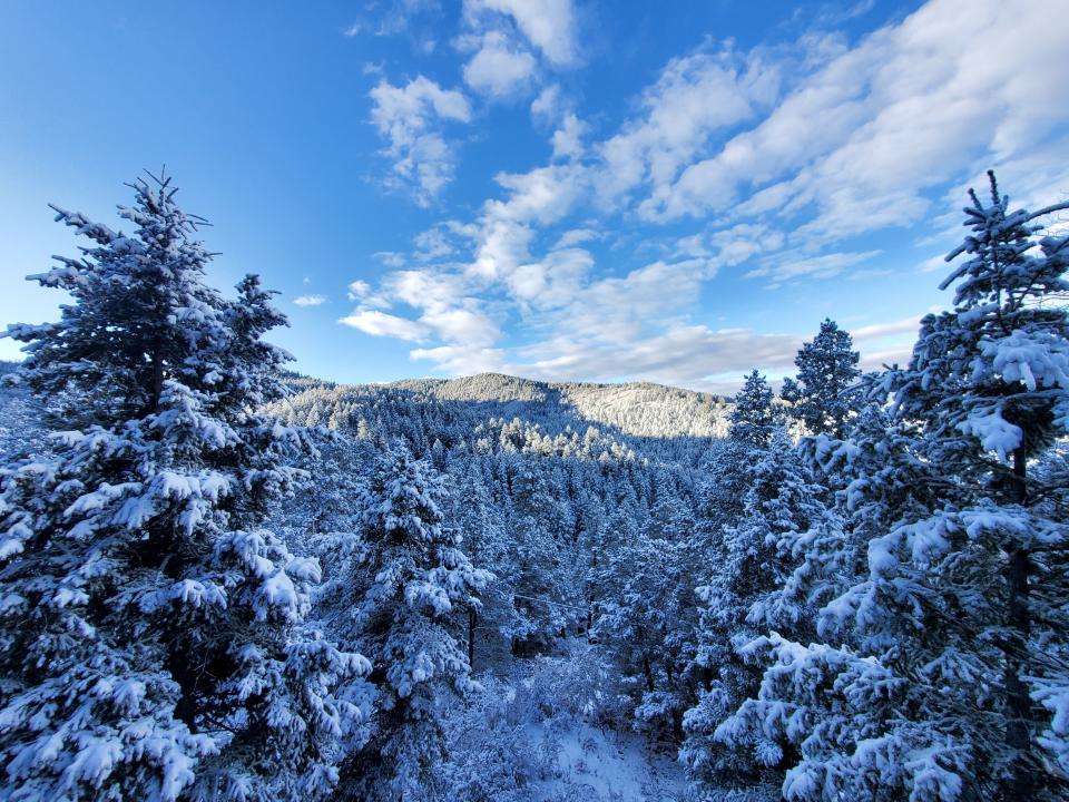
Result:
M0 321L167 165L339 381L727 391L824 316L866 365L949 303L964 189L1069 195L1062 0L0 7ZM17 346L0 341L0 358Z

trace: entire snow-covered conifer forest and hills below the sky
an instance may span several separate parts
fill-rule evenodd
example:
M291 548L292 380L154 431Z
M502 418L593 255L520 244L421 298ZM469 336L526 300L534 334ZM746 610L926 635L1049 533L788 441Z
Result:
M724 400L287 373L134 190L7 333L0 798L1069 793L1069 204L992 175L908 364Z

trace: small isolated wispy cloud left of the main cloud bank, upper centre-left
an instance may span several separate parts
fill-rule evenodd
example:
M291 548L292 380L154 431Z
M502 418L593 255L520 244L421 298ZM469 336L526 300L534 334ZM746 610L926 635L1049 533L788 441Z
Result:
M383 79L371 90L371 121L389 143L384 154L393 159L386 185L409 187L421 206L430 205L454 170L455 155L441 124L469 123L468 98L423 76L404 86Z

